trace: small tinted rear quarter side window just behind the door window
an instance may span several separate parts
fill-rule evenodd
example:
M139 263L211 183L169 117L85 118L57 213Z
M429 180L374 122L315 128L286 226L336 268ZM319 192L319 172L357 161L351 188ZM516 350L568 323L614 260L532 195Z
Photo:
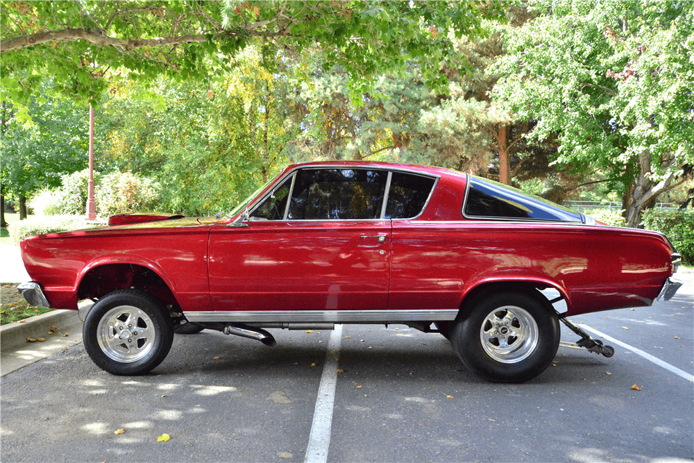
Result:
M393 172L388 192L386 219L411 219L421 214L436 179Z

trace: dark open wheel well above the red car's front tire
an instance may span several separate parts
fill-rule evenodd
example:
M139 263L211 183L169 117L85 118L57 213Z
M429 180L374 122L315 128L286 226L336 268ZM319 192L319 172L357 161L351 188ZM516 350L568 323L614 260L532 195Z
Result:
M139 288L164 305L178 305L169 286L153 270L136 264L105 264L94 267L82 278L78 300L99 299L117 289Z

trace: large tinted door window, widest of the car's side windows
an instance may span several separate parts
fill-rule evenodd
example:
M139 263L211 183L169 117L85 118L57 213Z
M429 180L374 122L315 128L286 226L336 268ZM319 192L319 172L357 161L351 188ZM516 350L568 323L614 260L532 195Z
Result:
M387 178L387 172L370 169L298 171L287 218L379 219Z

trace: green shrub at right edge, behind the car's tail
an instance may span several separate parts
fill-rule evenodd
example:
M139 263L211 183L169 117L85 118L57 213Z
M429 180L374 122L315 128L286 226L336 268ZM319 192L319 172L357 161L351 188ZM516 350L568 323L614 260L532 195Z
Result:
M649 209L643 213L643 226L670 239L682 254L684 264L694 264L694 208L685 210Z

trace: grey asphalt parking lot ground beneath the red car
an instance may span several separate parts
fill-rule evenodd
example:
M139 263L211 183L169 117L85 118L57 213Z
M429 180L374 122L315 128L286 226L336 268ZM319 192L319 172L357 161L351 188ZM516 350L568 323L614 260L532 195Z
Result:
M2 377L1 460L693 461L686 282L651 308L574 317L621 343L605 341L615 355L560 347L522 385L484 382L440 335L397 325L271 330L273 348L177 335L140 377L97 369L77 344Z

